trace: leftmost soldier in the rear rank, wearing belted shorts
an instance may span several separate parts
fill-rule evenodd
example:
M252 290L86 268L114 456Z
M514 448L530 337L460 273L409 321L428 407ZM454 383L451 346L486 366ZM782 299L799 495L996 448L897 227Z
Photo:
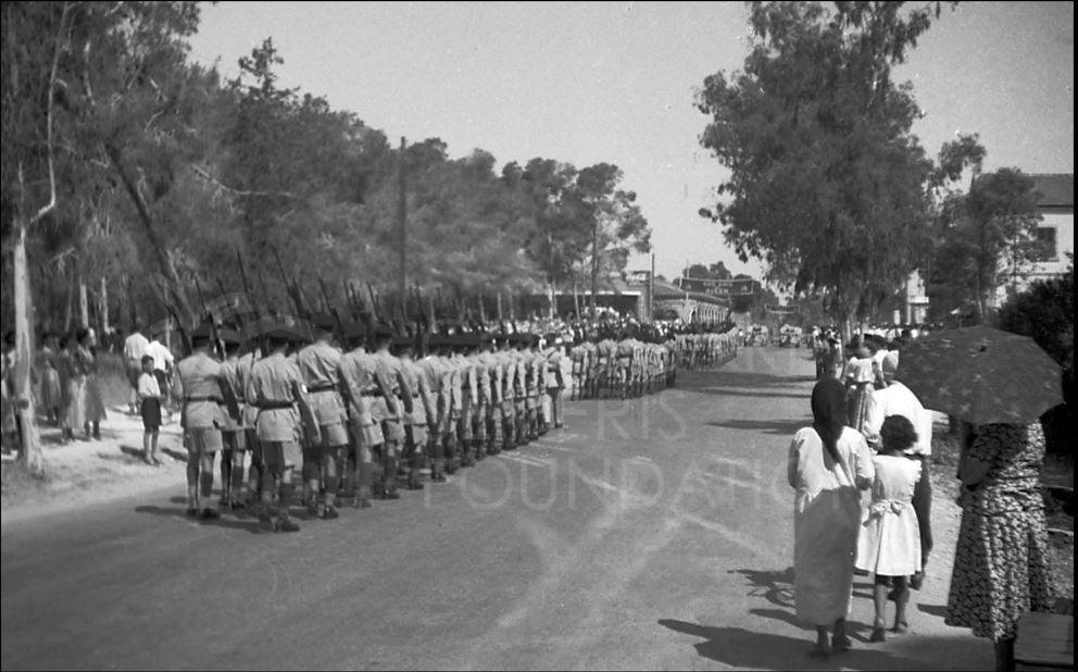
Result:
M173 391L183 400L187 446L187 514L203 520L221 513L211 503L213 462L222 448L221 363L210 357L213 329L205 324L191 333L190 357L176 366Z

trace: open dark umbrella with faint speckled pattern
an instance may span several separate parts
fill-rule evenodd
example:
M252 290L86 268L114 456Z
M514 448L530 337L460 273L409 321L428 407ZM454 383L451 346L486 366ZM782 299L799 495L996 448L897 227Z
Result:
M988 326L910 341L895 377L925 408L974 424L1028 424L1063 403L1060 365L1032 338Z

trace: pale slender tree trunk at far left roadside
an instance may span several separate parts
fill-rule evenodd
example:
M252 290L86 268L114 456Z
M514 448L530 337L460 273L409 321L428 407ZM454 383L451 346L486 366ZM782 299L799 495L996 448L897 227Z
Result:
M30 364L34 357L34 341L30 333L29 278L26 275L26 222L21 221L18 240L14 249L15 281L15 414L18 418L22 441L22 459L26 469L35 474L45 473L45 459L41 443L37 435L37 420L34 413L34 395L30 390Z

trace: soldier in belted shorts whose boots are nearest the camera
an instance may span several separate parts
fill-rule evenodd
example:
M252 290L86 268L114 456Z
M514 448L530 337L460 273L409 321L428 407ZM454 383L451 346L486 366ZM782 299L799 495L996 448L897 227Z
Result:
M289 517L294 486L292 473L301 464L300 414L296 401L302 394L303 378L296 364L286 357L291 343L302 339L285 326L266 335L268 353L254 362L247 381L247 402L259 410L255 422L262 448L262 511L263 528L276 532L298 532L299 525ZM273 491L277 490L277 509L273 508ZM276 520L273 517L276 513Z

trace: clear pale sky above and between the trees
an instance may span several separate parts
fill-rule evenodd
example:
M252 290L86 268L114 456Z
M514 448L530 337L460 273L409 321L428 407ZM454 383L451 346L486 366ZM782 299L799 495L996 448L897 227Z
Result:
M740 2L222 2L202 7L196 60L226 76L266 37L279 84L325 96L391 144L439 137L499 167L535 157L618 165L653 231L656 272L723 261L760 276L697 211L725 170L700 148L692 107L716 71L740 70ZM935 157L979 133L986 170L1074 172L1074 4L964 2L926 33L897 78L926 112ZM647 269L644 256L629 269Z

